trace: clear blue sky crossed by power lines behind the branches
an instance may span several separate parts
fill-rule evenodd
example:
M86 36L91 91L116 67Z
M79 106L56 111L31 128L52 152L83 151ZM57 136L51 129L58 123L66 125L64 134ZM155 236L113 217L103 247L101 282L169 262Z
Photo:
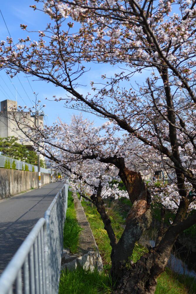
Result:
M20 1L14 1L14 0L7 0L6 2L0 4L1 12L4 16L4 19L6 21L6 24L8 26L9 32L11 34L11 37L13 38L14 43L17 43L19 37L25 37L27 35L27 32L20 29L20 24L26 24L28 25L29 30L43 30L49 21L48 16L43 14L39 11L33 11L32 8L30 8L30 5L36 4L33 0L20 0ZM6 29L6 26L4 24L3 18L0 15L0 40L6 40L6 37L8 36L8 31ZM30 38L33 40L37 40L37 34L29 34ZM91 87L89 86L89 82L91 79L93 81L98 81L101 74L112 74L113 72L116 72L114 68L112 68L109 65L96 65L96 64L88 64L88 67L91 66L91 71L85 75L83 78L83 83L87 84L88 86L86 88L81 88L82 93L86 93L88 89ZM138 74L140 75L140 74ZM142 74L143 78L144 75ZM26 93L28 94L29 98L27 97L23 87L21 86L19 80L17 77L14 77L9 80L8 76L6 75L4 70L0 71L0 101L5 99L11 99L16 100L16 90L17 88L18 93L23 98L24 102L22 101L19 94L17 94L17 101L19 105L24 106L32 106L31 101L34 100L33 91L38 93L38 99L41 100L42 104L46 104L46 108L44 109L46 115L48 115L48 122L49 124L56 121L57 117L61 117L63 121L69 122L70 116L72 113L79 113L78 111L66 109L63 107L64 103L63 101L60 102L54 102L54 101L46 101L45 98L52 100L52 96L56 95L56 97L66 97L65 91L61 88L57 88L53 86L51 83L46 83L44 81L33 81L35 78L29 77L29 82L31 84L31 87L33 88L33 91L29 85L29 82L24 74L18 75L22 86L24 87ZM93 78L92 78L93 77ZM136 77L138 80L141 81L141 77ZM14 86L13 86L13 84ZM15 88L14 88L15 87ZM15 98L15 99L14 99ZM30 101L31 100L31 101ZM95 120L96 125L102 123L103 121L100 121L99 118L96 116L93 116L89 113L84 113L84 116L90 119Z

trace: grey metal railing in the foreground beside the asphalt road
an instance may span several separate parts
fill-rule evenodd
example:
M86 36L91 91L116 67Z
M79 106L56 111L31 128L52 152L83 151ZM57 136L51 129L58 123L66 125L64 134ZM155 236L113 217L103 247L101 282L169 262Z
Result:
M57 294L68 183L53 199L0 276L1 294Z

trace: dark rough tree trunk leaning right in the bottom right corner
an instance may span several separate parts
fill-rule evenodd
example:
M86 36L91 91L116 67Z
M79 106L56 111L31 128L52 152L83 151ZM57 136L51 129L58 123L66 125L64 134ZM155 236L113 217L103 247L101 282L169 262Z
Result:
M121 268L121 277L117 281L118 294L153 294L156 290L157 278L164 271L172 247L180 232L196 222L196 213L185 219L190 200L182 199L175 220L165 235L158 237L157 246L143 255L130 268Z

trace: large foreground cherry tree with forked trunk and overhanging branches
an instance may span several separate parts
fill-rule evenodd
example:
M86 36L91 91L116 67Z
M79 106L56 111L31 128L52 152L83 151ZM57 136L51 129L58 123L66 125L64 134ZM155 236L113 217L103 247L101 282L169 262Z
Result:
M19 39L16 46L10 38L6 43L1 41L1 66L11 76L22 71L63 88L67 97L54 97L56 101L65 100L67 107L107 118L115 132L126 131L127 141L114 139L101 155L93 152L94 146L92 154L87 145L85 151L74 149L76 153L69 148L63 150L60 145L58 148L71 151L68 153L73 158L78 156L80 161L97 160L118 168L133 206L125 231L112 248L111 275L113 280L118 277L119 293L154 293L157 277L167 264L178 234L196 221L195 214L187 217L196 188L195 1L36 2L38 6L33 5L33 9L48 14L50 24L39 31L37 41L28 36ZM74 31L76 24L78 32ZM21 28L27 30L26 25ZM112 77L103 73L100 84L91 81L91 91L85 96L78 85L91 61L118 64L119 70ZM148 77L142 79L146 71ZM131 86L135 74L141 75L141 82ZM30 135L37 136L33 130ZM103 142L100 140L100 146ZM114 156L113 151L120 150L119 142L135 150L132 151L137 158L148 166L153 162L148 162L149 155L154 154L157 163L153 164L161 162L166 172L175 172L172 186L156 191L166 207L172 198L175 219L166 232L160 233L156 246L129 270L125 264L134 243L150 225L152 192L131 156L130 168L127 166L128 150L123 155L118 151ZM96 146L99 150L98 142ZM58 162L49 149L47 152Z

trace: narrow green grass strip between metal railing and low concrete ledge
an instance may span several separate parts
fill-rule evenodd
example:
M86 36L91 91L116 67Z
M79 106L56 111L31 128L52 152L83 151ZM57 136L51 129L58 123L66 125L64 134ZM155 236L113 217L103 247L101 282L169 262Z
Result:
M72 198L72 192L68 192L68 206L66 212L66 220L63 230L63 247L69 248L71 253L77 253L79 245L79 235L81 227L76 219L76 211Z

